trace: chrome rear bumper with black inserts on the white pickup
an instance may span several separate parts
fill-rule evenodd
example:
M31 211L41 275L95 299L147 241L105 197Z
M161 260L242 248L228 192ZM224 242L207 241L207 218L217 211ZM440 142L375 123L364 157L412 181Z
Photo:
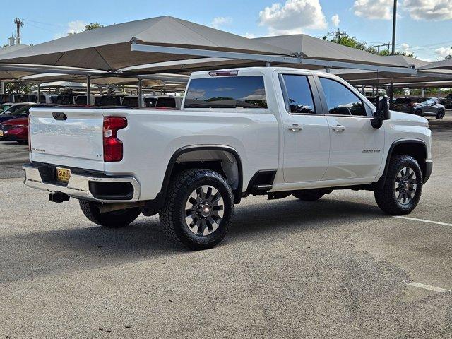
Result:
M110 177L100 174L73 173L64 184L54 179L52 165L23 165L24 184L34 189L61 192L73 198L98 201L102 203L136 202L140 197L140 184L133 177Z

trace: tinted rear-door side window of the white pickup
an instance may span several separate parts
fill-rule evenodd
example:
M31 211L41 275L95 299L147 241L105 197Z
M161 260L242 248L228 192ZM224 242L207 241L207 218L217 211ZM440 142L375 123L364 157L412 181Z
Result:
M286 107L290 113L315 114L314 100L307 76L283 75L287 90Z

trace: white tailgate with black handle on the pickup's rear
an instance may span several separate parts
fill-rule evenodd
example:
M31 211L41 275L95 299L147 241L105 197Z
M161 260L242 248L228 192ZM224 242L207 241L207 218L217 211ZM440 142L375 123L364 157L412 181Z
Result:
M30 160L103 170L102 109L30 109Z

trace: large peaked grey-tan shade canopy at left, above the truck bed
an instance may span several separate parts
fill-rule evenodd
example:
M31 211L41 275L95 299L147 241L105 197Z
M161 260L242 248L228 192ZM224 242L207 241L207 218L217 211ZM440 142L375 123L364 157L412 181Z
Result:
M119 23L36 44L0 55L0 63L70 66L104 71L149 62L190 59L171 53L131 50L131 41L167 47L210 49L254 54L286 54L287 51L214 28L171 16Z

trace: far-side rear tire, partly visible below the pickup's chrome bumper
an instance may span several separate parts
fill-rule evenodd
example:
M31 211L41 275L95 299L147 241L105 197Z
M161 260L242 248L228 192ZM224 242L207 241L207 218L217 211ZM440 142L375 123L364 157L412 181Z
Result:
M119 228L129 225L138 218L140 208L127 208L126 210L114 210L113 212L100 213L93 201L80 200L80 208L90 221L108 228Z

